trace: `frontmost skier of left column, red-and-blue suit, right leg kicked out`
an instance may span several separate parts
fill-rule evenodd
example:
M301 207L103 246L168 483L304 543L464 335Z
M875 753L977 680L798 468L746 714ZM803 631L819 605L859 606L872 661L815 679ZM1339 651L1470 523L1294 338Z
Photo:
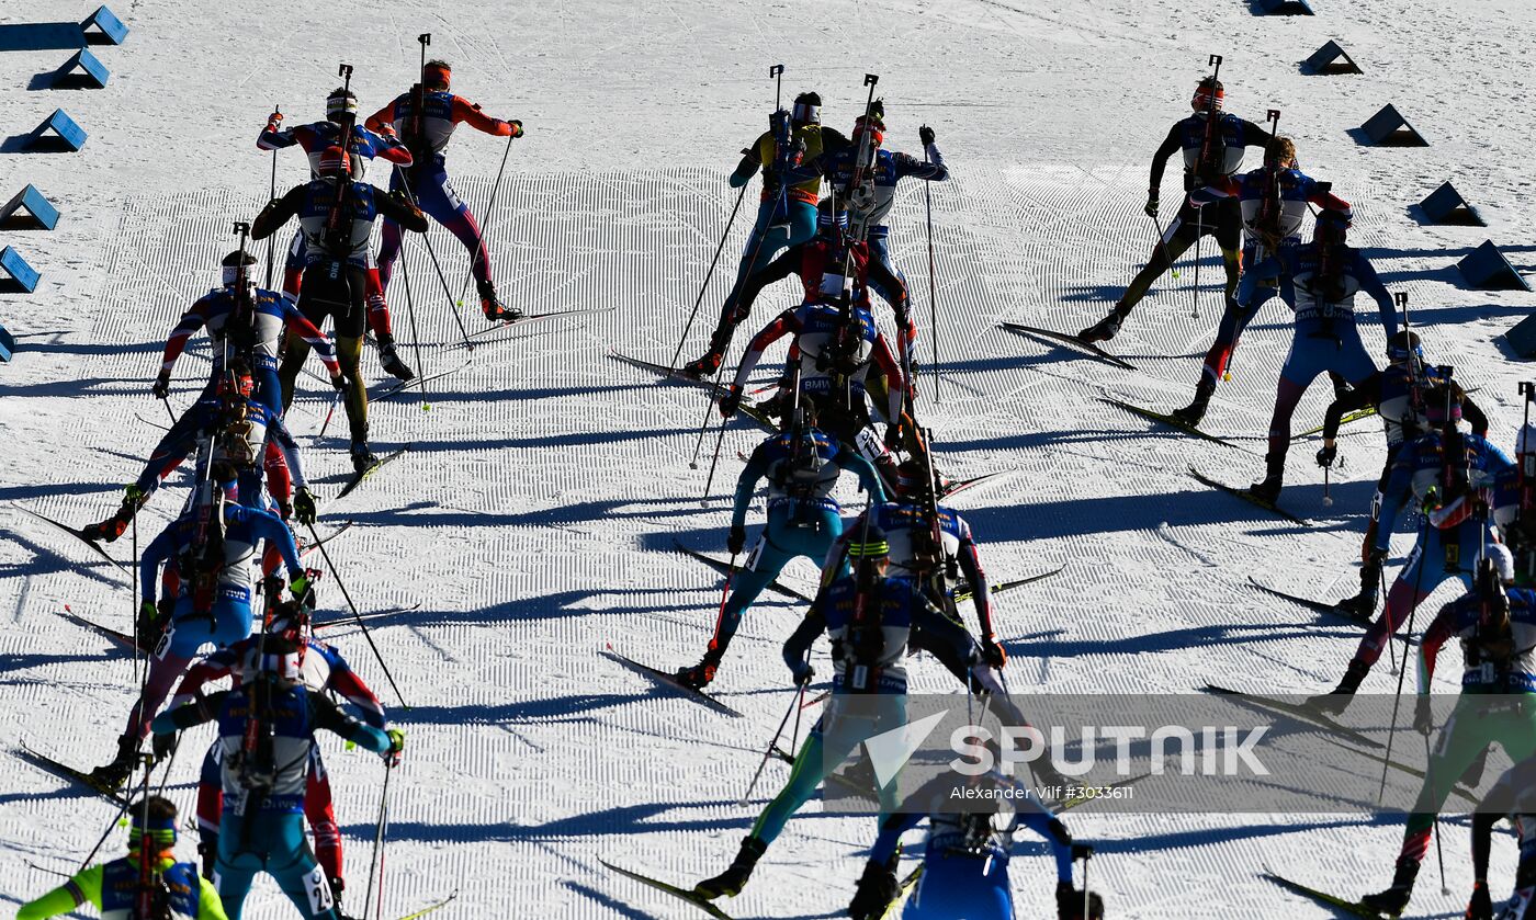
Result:
M481 237L479 224L470 213L468 204L459 198L458 192L453 190L453 183L449 181L442 152L461 123L495 137L522 137L522 121L516 118L502 121L481 112L478 104L449 91L450 78L452 69L445 61L427 61L421 72L421 83L369 115L364 124L370 131L404 138L412 149L415 164L409 170L396 169L390 177L389 187L392 192L406 189L409 195L416 198L418 207L447 227L470 250L470 272L475 275L475 287L479 292L481 310L484 310L485 318L518 319L522 312L504 306L496 298L485 240ZM421 98L421 117L416 114L418 97ZM396 256L399 256L399 226L386 218L384 241L379 246L379 280L386 289Z

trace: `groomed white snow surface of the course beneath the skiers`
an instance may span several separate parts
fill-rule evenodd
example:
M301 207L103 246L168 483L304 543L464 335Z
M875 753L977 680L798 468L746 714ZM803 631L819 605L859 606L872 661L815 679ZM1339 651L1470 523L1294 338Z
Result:
M69 20L72 3L14 5L0 22ZM1115 347L1137 366L1120 372L995 329L1000 319L1078 329L1100 316L1150 244L1140 213L1147 155L1186 111L1206 55L1224 54L1229 108L1263 120L1283 111L1304 169L1330 178L1356 204L1356 241L1389 286L1412 296L1433 359L1484 387L1498 439L1519 421L1518 362L1498 336L1531 307L1525 293L1465 290L1455 261L1491 237L1516 267L1533 267L1533 221L1522 114L1536 15L1528 5L1455 9L1428 0L1346 5L1318 0L1318 17L1264 18L1240 0L1154 3L1066 0L849 3L554 3L441 0L332 3L260 11L181 0L134 2L117 12L132 34L98 49L112 71L104 91L26 91L66 52L0 54L0 134L23 134L63 106L91 132L80 154L0 155L0 194L37 184L63 212L52 233L5 233L43 273L32 296L0 298L0 323L18 336L0 369L0 498L68 521L117 502L158 432L147 395L160 343L181 307L215 280L230 220L266 198L270 161L253 140L273 103L316 117L335 65L356 65L364 108L404 89L418 32L455 65L455 88L498 117L522 118L490 249L502 292L530 312L614 307L545 324L485 346L473 362L429 386L419 401L378 404L381 447L412 453L324 519L358 522L336 542L339 574L364 610L421 602L381 625L376 639L412 710L393 708L410 751L392 808L386 914L461 889L458 917L679 917L685 908L602 872L598 857L662 877L694 880L722 866L759 805L739 808L757 748L786 703L777 644L799 616L766 597L750 614L717 683L748 714L725 720L651 694L596 656L604 644L659 664L702 650L717 579L671 553L673 539L717 550L723 496L753 435L733 429L700 507L702 473L688 468L697 390L657 386L605 358L611 347L668 359L730 210L723 175L763 126L765 80L785 63L786 94L816 88L826 118L846 129L865 72L882 75L891 146L914 151L917 124L938 129L955 180L935 187L942 404L925 392L942 461L957 475L1012 467L1006 484L957 504L995 577L1057 564L1068 570L1000 599L1015 691L1190 691L1221 676L1310 693L1330 687L1355 633L1316 627L1244 587L1342 596L1379 435L1344 439L1338 502L1321 504L1312 450L1292 452L1286 501L1318 522L1281 525L1186 473L1241 482L1256 476L1286 315L1250 329L1236 376L1210 415L1246 456L1150 432L1098 402L1111 393L1183 404L1210 339L1220 269L1203 267L1200 319L1190 318L1189 269L1135 313ZM1038 9L1037 9L1038 8ZM1296 61L1338 38L1361 77L1307 77ZM1373 149L1349 129L1395 103L1430 140L1427 149ZM458 187L482 213L501 143L461 132ZM1172 201L1177 169L1164 201ZM300 181L280 160L280 186ZM382 181L381 174L375 174ZM1445 178L1490 227L1425 227L1410 204ZM894 215L899 261L926 310L922 198ZM1169 207L1170 209L1170 207ZM482 213L484 217L484 213ZM745 241L737 221L728 249ZM458 293L465 258L435 232ZM447 298L424 252L412 250L413 303L429 367L464 359ZM707 309L728 280L716 276ZM788 286L757 316L793 303ZM404 276L390 299L406 330ZM465 323L478 329L473 310ZM696 327L696 341L702 332ZM409 338L409 333L402 333ZM1366 332L1379 346L1379 330ZM926 353L926 344L925 344ZM203 362L183 358L180 409ZM293 427L313 435L327 395L298 402ZM1321 416L1313 393L1298 424ZM140 416L144 421L140 421ZM347 467L335 433L306 455L321 496ZM160 496L141 539L166 519ZM0 516L0 730L81 765L106 759L132 694L131 665L55 614L124 625L124 579L71 538L25 515ZM114 547L120 558L123 544ZM1405 550L1405 544L1398 547ZM796 564L793 576L811 577ZM339 604L332 584L326 602ZM361 636L338 639L381 690L387 683ZM919 665L919 685L948 677ZM1378 668L1367 690L1390 691ZM329 748L350 875L366 874L379 768ZM194 763L178 763L174 794L190 808ZM94 843L111 809L17 757L0 757L0 897L25 900L54 883L34 862L68 869ZM770 766L766 789L785 771ZM848 900L869 840L866 820L791 822L746 894L742 917L823 917ZM1083 809L1089 811L1089 809ZM1324 917L1256 877L1261 865L1361 894L1390 877L1399 826L1356 819L1094 817L1074 831L1103 840L1095 888L1120 917ZM1495 877L1511 875L1499 846ZM190 852L190 848L187 848ZM1450 826L1452 897L1427 868L1410 914L1459 914L1470 888L1465 828ZM1049 871L1021 859L1020 915L1048 914ZM1498 891L1505 891L1499 882ZM250 917L289 909L267 883Z

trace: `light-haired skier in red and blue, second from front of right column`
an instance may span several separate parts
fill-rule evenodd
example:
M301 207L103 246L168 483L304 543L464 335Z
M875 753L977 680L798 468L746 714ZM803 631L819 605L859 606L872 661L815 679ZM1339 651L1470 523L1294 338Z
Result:
M1332 194L1329 187L1296 169L1296 144L1290 138L1276 137L1264 154L1263 167L1240 177L1220 177L1209 186L1190 192L1189 203L1201 207L1224 198L1236 198L1243 210L1246 238L1243 264L1255 266L1301 244L1301 221L1307 215L1307 204L1338 210L1346 220L1355 217L1349 201ZM1174 410L1174 418L1190 427L1200 424L1206 416L1210 395L1217 392L1217 381L1227 372L1238 338L1258 309L1276 293L1276 287L1261 287L1250 275L1238 281L1236 295L1227 298L1226 312L1217 327L1217 341L1206 353L1200 379L1195 382L1195 398L1189 405Z

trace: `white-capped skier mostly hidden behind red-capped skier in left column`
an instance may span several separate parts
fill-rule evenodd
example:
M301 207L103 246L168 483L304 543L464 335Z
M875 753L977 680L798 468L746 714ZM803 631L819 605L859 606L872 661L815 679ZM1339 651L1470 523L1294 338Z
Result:
M309 157L309 178L319 178L319 157L326 152L326 147L338 146L341 141L341 121L352 121L352 141L347 144L347 152L350 154L350 169L353 180L362 180L367 170L367 161L375 157L386 160L396 166L410 166L410 149L399 143L395 137L387 134L375 134L367 127L356 123L358 118L358 97L347 88L338 86L330 97L326 100L326 120L313 121L310 124L300 124L290 129L280 129L283 123L283 112L272 112L267 115L267 126L257 137L257 149L261 151L283 151L287 147L300 147L304 155ZM289 244L287 261L283 264L283 293L289 295L289 299L298 301L300 284L304 275L304 255L309 249L304 240L304 230L300 229L293 233L293 243ZM389 304L384 303L384 287L379 283L379 273L375 267L367 270L367 292L369 304L369 329L373 330L373 336L393 341L393 330L390 329ZM386 369L389 370L389 369Z

